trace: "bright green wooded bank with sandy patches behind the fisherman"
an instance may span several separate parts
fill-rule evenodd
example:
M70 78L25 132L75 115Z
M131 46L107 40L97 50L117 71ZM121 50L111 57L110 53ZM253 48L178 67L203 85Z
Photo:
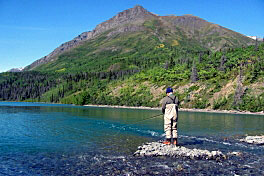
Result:
M163 95L155 95L158 96L155 99L150 92L150 87L143 86L143 82L151 82L157 88L164 85L184 85L192 82L198 85L199 83L204 84L206 89L201 91L195 100L190 100L190 95L200 88L198 85L190 87L184 93L179 94L181 101L185 102L183 107L207 108L211 106L213 109L259 111L264 106L264 99L254 99L254 95L250 94L250 89L247 89L247 86L258 82L264 76L263 46L259 46L257 52L254 46L235 49L225 48L214 53L185 50L181 51L179 57L174 57L171 54L171 57L167 58L165 62L155 63L149 59L140 60L138 62L141 62L141 64L143 62L148 63L149 68L141 69L140 72L129 77L135 84L131 83L131 80L130 82L128 80L121 81L120 87L127 86L118 90L117 94L111 92L113 89L109 90L108 85L111 83L108 79L109 74L97 73L97 77L101 79L89 82L84 86L85 90L81 89L83 87L81 86L82 81L79 80L79 89L75 89L75 92L78 93L62 99L62 102L81 105L158 106ZM219 92L228 81L235 80L237 76L241 77L241 82L234 85L236 86L235 93L230 94L229 97L220 97L219 100L210 104L208 100L212 98L214 93ZM263 94L260 94L260 97L262 96Z

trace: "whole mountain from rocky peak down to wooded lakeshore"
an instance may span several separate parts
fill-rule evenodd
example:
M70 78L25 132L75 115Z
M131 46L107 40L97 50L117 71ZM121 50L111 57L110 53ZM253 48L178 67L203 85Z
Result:
M125 10L22 72L0 74L0 101L263 111L264 43L193 15Z

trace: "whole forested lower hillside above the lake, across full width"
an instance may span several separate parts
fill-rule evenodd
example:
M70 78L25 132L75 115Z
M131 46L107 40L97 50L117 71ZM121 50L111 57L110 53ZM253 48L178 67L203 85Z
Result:
M142 41L136 41L134 45L140 46ZM58 61L63 64L65 57L72 58L75 54L85 57L77 51L92 44L95 43L65 53ZM172 86L183 108L263 110L264 44L217 52L156 44L153 39L155 48L145 53L108 51L106 53L111 54L103 55L100 52L101 55L97 55L100 64L88 59L88 69L81 64L79 68L84 68L83 71L78 72L76 68L75 73L67 72L78 63L74 60L68 62L70 67L46 67L54 72L44 72L46 65L43 65L38 68L39 72L3 73L0 76L0 97L13 101L155 107L159 106L164 89ZM117 53L118 58L115 57ZM34 79L28 79L30 74ZM43 74L52 79L46 83L39 81ZM37 88L44 90L47 85L45 91L37 91ZM19 93L16 88L22 93L29 91L20 93L25 97L4 96L6 92L10 95ZM37 96L34 92L40 93Z

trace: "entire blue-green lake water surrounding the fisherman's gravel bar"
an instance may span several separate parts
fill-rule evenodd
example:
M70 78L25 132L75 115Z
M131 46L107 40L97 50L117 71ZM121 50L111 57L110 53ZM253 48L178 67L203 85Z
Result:
M263 116L179 113L180 145L239 151L240 157L223 162L134 157L139 145L164 138L162 116L142 121L157 114L160 111L0 102L0 175L264 174L264 148L238 141L263 134Z

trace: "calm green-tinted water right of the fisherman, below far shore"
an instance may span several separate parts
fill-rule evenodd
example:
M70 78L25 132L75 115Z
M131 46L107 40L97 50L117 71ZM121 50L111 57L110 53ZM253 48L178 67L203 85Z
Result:
M264 130L264 117L256 115L180 113L179 129L183 134L201 136L257 135Z

